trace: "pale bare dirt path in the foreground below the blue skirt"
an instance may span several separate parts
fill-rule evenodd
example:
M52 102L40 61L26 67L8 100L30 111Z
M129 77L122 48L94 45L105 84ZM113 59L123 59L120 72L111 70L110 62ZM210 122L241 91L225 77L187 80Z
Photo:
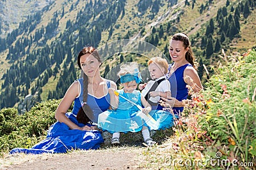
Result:
M143 169L139 167L141 147L75 151L68 154L11 155L0 169Z

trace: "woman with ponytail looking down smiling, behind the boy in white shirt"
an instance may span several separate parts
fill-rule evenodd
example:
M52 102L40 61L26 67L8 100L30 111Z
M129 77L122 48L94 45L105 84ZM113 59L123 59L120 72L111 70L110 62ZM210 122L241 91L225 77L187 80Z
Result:
M172 108L173 113L180 117L184 109L182 100L188 97L189 85L194 92L203 89L202 83L196 72L194 56L188 35L185 33L174 34L170 41L170 57L173 63L168 67L168 80L171 84L172 97L165 99L161 97L161 105Z

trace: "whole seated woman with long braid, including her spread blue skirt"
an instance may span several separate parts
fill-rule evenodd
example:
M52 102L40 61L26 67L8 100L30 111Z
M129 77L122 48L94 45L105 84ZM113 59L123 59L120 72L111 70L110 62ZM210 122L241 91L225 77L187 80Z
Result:
M98 115L108 110L111 100L108 89L116 89L116 84L100 76L101 60L92 46L79 52L77 64L83 71L83 78L68 88L56 110L58 122L50 127L47 138L32 148L14 148L10 153L65 153L73 149L99 148L104 140L97 131ZM73 101L72 113L67 113Z

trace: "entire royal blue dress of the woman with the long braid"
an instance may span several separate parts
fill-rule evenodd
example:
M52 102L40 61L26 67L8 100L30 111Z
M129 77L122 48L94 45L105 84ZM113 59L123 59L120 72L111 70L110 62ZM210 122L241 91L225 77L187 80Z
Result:
M81 85L81 93L74 101L74 107L72 113L66 113L66 116L74 122L79 127L83 127L84 124L77 122L76 115L79 108L81 108L81 101L83 101L83 78L76 80L79 81ZM107 80L108 88L110 87L110 81ZM99 99L88 95L87 104L92 108L93 113L95 113L95 119L98 117L99 113L108 110L110 96L100 97ZM99 104L99 106L97 106ZM95 121L93 119L93 122ZM91 126L90 124L86 124ZM56 122L51 125L49 131L47 132L46 139L40 143L32 146L32 148L14 148L10 151L12 153L66 153L68 150L80 149L89 150L97 149L100 147L100 143L103 143L99 131L80 131L78 129L70 129L68 125Z

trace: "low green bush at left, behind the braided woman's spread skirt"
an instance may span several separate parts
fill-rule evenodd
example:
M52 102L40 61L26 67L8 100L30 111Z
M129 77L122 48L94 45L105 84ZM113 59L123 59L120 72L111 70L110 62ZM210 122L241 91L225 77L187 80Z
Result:
M42 141L49 127L56 122L54 115L59 103L60 100L38 103L22 115L15 108L0 110L1 152L17 147L31 148Z

